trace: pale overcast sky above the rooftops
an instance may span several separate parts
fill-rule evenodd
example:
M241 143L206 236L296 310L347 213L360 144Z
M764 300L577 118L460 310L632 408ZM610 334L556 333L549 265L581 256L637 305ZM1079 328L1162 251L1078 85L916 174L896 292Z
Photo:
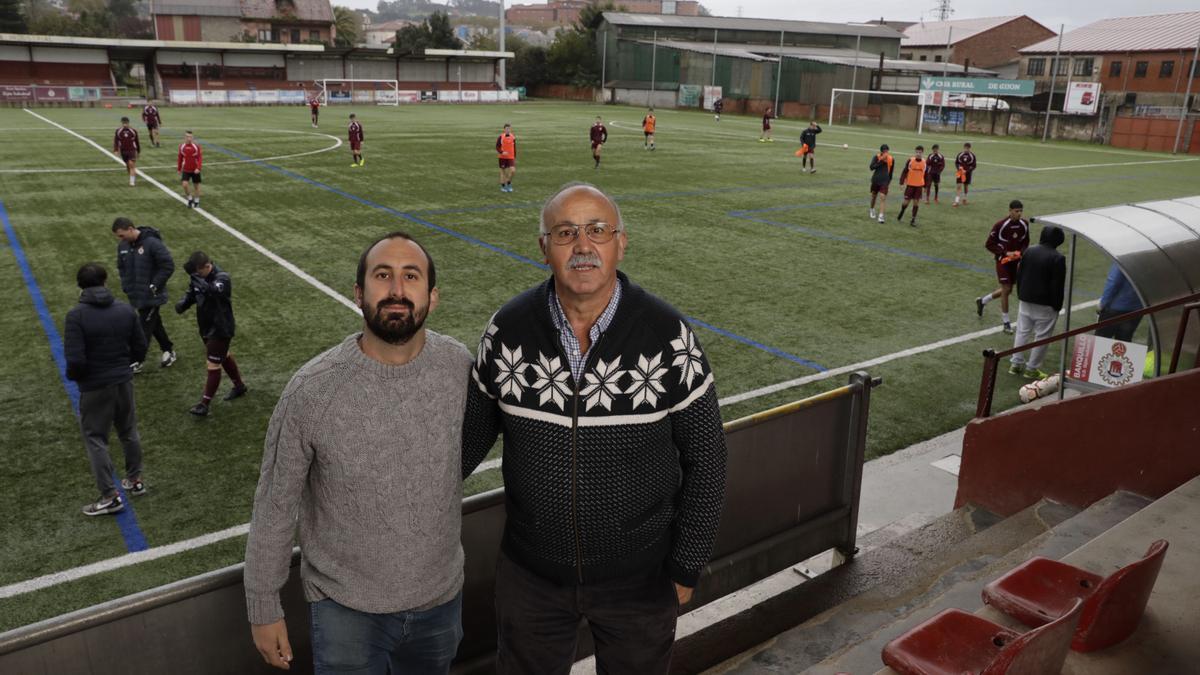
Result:
M542 0L521 0L539 5ZM619 0L617 0L619 4ZM505 6L512 5L505 0ZM802 0L702 0L710 12L724 17L769 19L809 19L827 22L862 22L884 17L894 20L935 20L937 0L875 0L870 2L832 1L805 2ZM334 0L334 5L374 10L376 0ZM1067 30L1088 24L1096 19L1132 14L1165 14L1170 12L1196 11L1196 0L1152 0L1146 5L1118 0L952 0L954 18L995 17L1028 14L1034 20L1057 30L1067 24Z

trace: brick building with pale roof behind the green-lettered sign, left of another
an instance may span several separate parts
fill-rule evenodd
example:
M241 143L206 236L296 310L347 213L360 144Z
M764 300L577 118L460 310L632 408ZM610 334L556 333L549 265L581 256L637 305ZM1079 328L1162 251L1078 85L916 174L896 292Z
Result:
M1056 36L1026 16L923 22L902 30L901 59L947 60L995 71L1010 79L1016 78L1022 47Z

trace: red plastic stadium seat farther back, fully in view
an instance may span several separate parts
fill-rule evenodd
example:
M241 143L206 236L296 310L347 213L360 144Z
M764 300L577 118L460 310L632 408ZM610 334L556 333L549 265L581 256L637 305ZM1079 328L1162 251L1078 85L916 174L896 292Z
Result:
M1070 649L1102 650L1128 638L1141 621L1166 556L1159 539L1146 555L1108 579L1064 562L1034 557L983 590L983 602L1026 626L1042 626L1062 616L1075 599L1084 601L1082 619Z

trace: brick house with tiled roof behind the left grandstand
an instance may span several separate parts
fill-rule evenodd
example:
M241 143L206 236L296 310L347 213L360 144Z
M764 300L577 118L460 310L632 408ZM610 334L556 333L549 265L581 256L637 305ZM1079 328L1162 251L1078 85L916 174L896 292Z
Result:
M190 42L332 43L329 0L154 0L155 37Z

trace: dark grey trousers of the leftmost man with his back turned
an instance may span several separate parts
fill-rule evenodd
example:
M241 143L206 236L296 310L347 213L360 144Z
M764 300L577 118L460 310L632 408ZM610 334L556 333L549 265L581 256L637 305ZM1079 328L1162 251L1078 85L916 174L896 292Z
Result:
M113 460L108 456L108 434L116 428L116 437L125 449L125 477L142 476L142 437L138 436L138 416L133 406L133 381L109 384L103 389L79 393L79 428L88 449L91 474L103 497L116 494L113 484Z

